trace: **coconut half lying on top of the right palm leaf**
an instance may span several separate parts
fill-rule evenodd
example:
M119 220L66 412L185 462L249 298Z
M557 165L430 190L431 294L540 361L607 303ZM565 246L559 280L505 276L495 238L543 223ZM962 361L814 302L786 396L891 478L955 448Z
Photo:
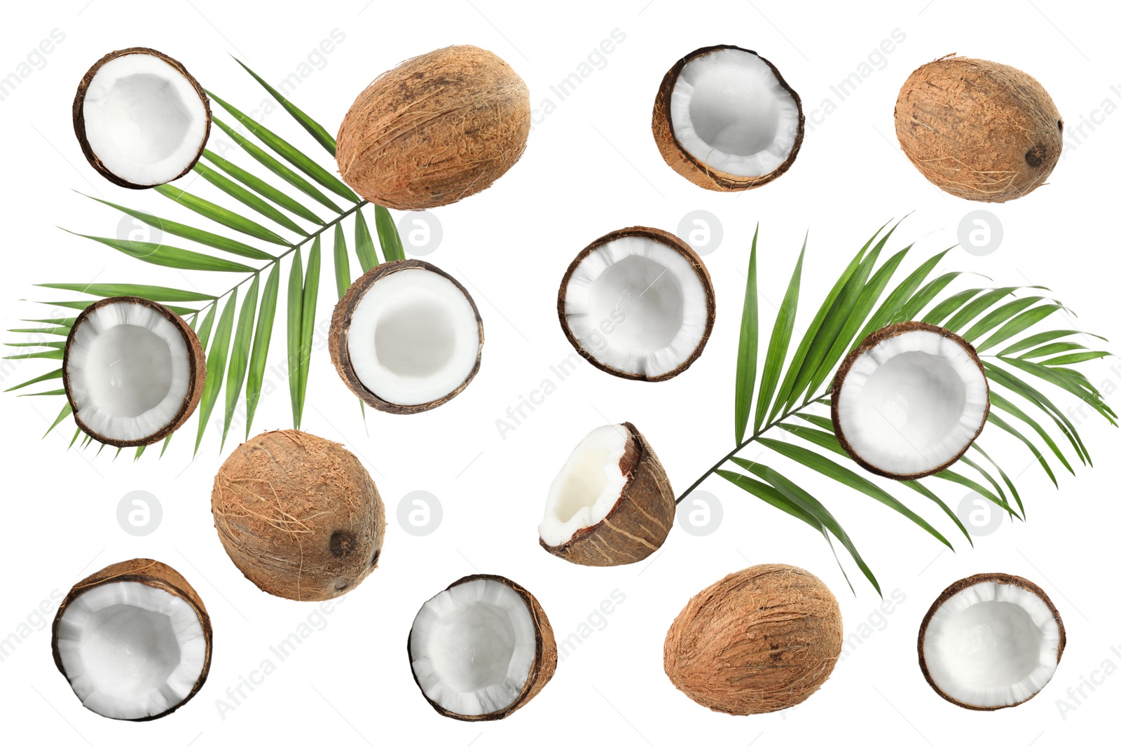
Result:
M896 480L939 472L989 417L984 365L969 342L934 324L873 332L833 380L833 428L864 469Z

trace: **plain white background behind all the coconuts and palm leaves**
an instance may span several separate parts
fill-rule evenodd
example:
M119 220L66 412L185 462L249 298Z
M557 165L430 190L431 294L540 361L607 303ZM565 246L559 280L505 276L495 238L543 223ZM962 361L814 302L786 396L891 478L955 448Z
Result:
M997 285L1047 285L1078 313L1076 319L1056 316L1055 324L1121 336L1113 220L1121 116L1096 116L1096 129L1084 126L1085 137L1071 139L1080 121L1104 100L1111 100L1113 109L1121 103L1121 90L1111 89L1121 84L1119 18L1105 8L1054 0L634 0L549 7L494 0L368 6L365 0L78 0L6 8L0 75L17 71L53 29L65 39L33 61L38 68L0 101L4 329L25 325L19 319L52 313L22 301L62 297L33 288L35 283L98 278L189 287L178 273L141 265L55 228L114 236L120 215L73 190L191 222L189 213L157 194L128 192L103 181L81 155L70 119L74 89L109 50L158 48L245 111L258 109L266 95L228 53L274 83L302 70L312 54L313 64L303 68L309 74L290 98L331 131L376 75L448 44L494 50L526 79L535 108L546 98L557 107L537 116L526 154L508 175L476 196L437 210L444 239L425 259L464 282L479 303L487 332L482 370L463 395L424 415L368 412L367 432L356 402L331 368L325 335L316 340L304 427L345 442L362 459L387 502L389 522L380 568L330 615L318 618L314 605L258 591L217 542L209 505L211 482L223 455L243 437L240 428L231 433L222 454L211 432L192 459L192 421L161 460L149 454L133 463L130 454L122 454L113 461L111 450L100 457L92 448L67 451L70 424L40 440L59 399L0 397L7 525L0 553L8 569L0 637L20 636L13 653L0 662L3 740L98 746L418 740L476 747L578 740L660 747L692 744L703 735L712 743L759 747L825 740L937 746L1115 741L1112 714L1121 676L1101 670L1106 660L1112 662L1110 672L1121 665L1121 648L1111 651L1121 646L1115 625L1121 607L1113 589L1121 472L1118 433L1101 418L1071 411L1097 467L1080 469L1077 478L1062 474L1059 491L1021 446L994 428L985 432L982 443L1006 470L1020 474L1028 520L1011 525L1006 517L994 533L976 538L975 548L960 534L955 540L954 527L937 509L902 496L955 542L956 554L943 552L936 541L883 506L767 455L833 509L878 572L886 598L895 592L902 599L890 614L880 611L879 597L845 560L855 594L849 590L819 536L719 478L705 485L723 505L717 531L695 537L675 527L664 551L637 566L569 565L543 552L536 537L550 479L572 446L604 418L636 423L678 491L729 449L743 273L757 222L766 330L807 230L807 304L799 330L876 227L915 211L889 245L901 248L917 241L904 268L909 271L956 242L956 227L967 212L985 208L1003 223L1002 245L985 257L955 250L944 268L984 274ZM334 29L344 40L330 55L316 57L313 50ZM585 62L613 29L624 40L606 55L601 70L557 102L549 86ZM879 63L874 72L839 101L830 86L867 62L893 29L906 39L873 61ZM826 98L836 103L835 111L817 114L817 123L807 126L805 145L788 174L743 194L707 192L676 175L663 163L649 130L665 71L689 50L719 43L757 49L771 59L802 94L807 117ZM892 128L900 83L921 63L955 52L1020 67L1050 92L1068 136L1050 184L1003 205L969 203L930 186L900 154ZM330 165L287 116L272 113L265 121ZM230 157L250 163L243 154ZM214 195L201 179L191 188ZM557 324L554 296L572 257L592 239L624 225L676 230L682 216L697 209L712 212L723 225L721 246L705 257L719 312L700 361L658 385L624 381L581 363L545 404L501 439L495 419L571 353ZM335 297L330 251L324 258L321 320L328 319ZM219 293L231 284L226 277L197 273L189 282ZM278 314L270 362L282 357L282 319ZM1083 370L1103 390L1115 391L1121 387L1121 368L1115 366L1115 359L1106 359ZM46 361L7 367L3 386L48 367ZM269 380L274 390L262 402L254 432L291 424L286 382L275 374ZM1053 394L1063 407L1072 404L1065 395ZM1119 398L1110 399L1117 407ZM956 486L935 487L952 506L965 498L966 491ZM127 534L115 518L118 502L131 490L147 490L163 506L160 526L146 537ZM443 523L428 536L411 536L397 522L398 502L413 490L434 494L443 506ZM57 598L82 577L136 556L156 557L183 572L203 597L214 625L213 667L201 693L173 716L139 725L106 720L81 707L54 667L49 627L43 621L54 616ZM663 673L666 628L692 594L729 572L763 562L796 564L822 578L836 593L854 643L846 646L846 656L825 686L796 709L751 718L712 713L677 692ZM1068 635L1053 682L1035 700L992 713L966 711L937 698L923 680L915 653L918 624L930 601L954 580L981 571L1017 573L1039 583L1059 608ZM590 616L602 628L560 662L555 679L532 702L503 722L472 725L438 717L416 690L406 657L409 625L423 601L474 572L501 573L525 584L541 601L558 638L577 633ZM626 601L600 621L594 612L614 590ZM40 602L47 610L43 618L35 612ZM322 621L322 629L253 692L243 688L248 697L223 718L219 700L233 703L226 689L257 670L271 656L269 647L309 616L313 622ZM1085 698L1073 700L1067 689L1091 679L1100 683L1095 690L1084 685ZM1060 708L1064 702L1074 708Z

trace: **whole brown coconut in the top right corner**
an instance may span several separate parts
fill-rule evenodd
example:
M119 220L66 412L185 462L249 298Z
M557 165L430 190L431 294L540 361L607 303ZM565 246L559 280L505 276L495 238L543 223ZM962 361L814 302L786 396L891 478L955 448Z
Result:
M1063 151L1063 118L1027 73L949 55L904 82L896 136L938 188L966 200L1006 202L1050 175Z

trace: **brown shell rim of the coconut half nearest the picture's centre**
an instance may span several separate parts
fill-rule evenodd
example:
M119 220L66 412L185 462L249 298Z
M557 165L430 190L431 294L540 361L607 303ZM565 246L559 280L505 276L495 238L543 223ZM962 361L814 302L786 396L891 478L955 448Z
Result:
M566 313L566 296L568 290L568 282L572 280L573 273L576 271L576 267L587 257L590 253L599 249L605 243L610 243L615 239L621 239L623 237L637 236L645 239L652 239L658 243L669 247L677 253L682 255L686 261L693 267L693 271L696 273L697 279L701 280L701 285L704 286L705 290L705 312L707 316L707 322L705 323L704 334L701 336L701 342L697 344L696 349L689 354L689 357L682 362L680 366L671 371L666 371L665 374L659 374L658 376L647 376L645 374L632 374L630 371L621 371L618 368L608 366L606 363L600 361L594 354L584 350L580 345L580 341L576 335L572 333L568 329L567 313ZM649 228L647 225L632 225L630 228L619 229L618 231L612 231L605 236L601 236L599 239L592 243L584 247L576 258L572 260L568 265L568 269L565 270L564 277L560 278L560 289L557 292L557 316L560 319L560 330L564 332L565 338L576 349L576 352L586 360L589 363L600 369L601 371L606 371L612 376L618 376L623 379L633 379L637 381L665 381L666 379L671 379L689 366L692 366L701 353L704 352L704 347L708 342L708 336L712 334L712 326L716 322L716 294L712 287L712 277L708 275L708 269L701 261L701 256L693 250L693 247L682 241L679 238L670 233L669 231L663 231L661 229Z

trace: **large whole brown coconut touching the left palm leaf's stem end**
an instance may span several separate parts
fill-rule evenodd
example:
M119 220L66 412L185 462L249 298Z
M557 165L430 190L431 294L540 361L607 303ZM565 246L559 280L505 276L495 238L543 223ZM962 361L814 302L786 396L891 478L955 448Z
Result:
M444 47L406 59L359 94L339 128L339 173L379 205L446 205L517 163L529 120L529 89L501 57Z

